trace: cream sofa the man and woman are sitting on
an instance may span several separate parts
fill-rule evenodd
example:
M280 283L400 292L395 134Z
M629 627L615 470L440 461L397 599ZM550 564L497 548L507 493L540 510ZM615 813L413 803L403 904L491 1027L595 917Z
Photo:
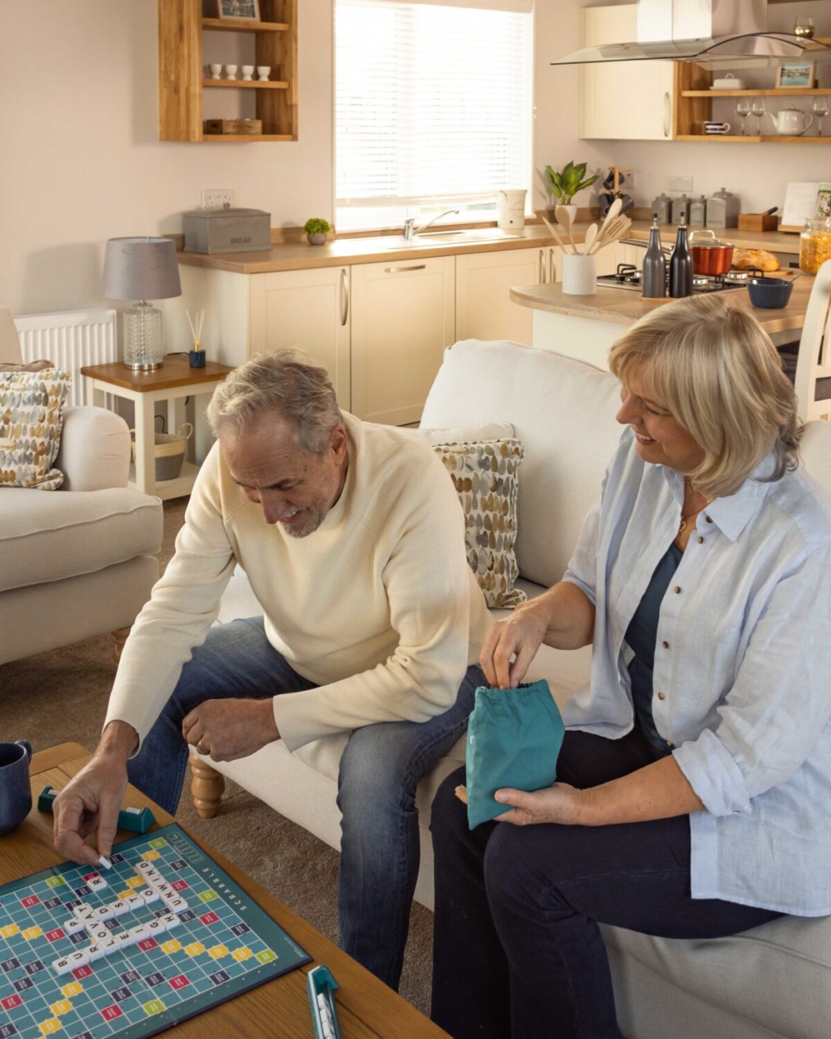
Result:
M526 448L519 476L520 585L538 594L558 581L620 435L614 376L515 343L457 343L445 355L422 426L509 422ZM831 423L806 431L807 468L831 488ZM262 612L238 572L220 620ZM543 646L530 677L545 677L562 702L586 681L590 649ZM218 769L333 848L338 763L346 737L289 753L282 743ZM464 741L422 782L422 867L416 898L432 906L428 831L436 787L464 763ZM211 763L213 764L213 763ZM275 854L279 854L275 849ZM783 918L715 941L651 938L606 928L618 1016L629 1039L828 1039L831 921Z

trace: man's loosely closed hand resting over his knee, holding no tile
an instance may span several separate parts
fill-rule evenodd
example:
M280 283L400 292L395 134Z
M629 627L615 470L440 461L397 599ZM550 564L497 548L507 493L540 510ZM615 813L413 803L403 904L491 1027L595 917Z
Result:
M235 762L278 740L279 731L269 697L206 700L185 717L182 736L215 762Z

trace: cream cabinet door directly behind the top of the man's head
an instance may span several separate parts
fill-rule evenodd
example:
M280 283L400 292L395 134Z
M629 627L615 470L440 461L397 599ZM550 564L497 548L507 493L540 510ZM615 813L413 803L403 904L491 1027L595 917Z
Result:
M349 267L251 274L249 355L300 347L326 366L338 403L352 410Z

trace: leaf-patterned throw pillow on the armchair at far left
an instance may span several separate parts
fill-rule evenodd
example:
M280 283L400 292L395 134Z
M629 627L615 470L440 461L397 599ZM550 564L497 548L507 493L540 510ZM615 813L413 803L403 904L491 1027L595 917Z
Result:
M53 469L72 375L61 369L0 372L0 488L57 490Z

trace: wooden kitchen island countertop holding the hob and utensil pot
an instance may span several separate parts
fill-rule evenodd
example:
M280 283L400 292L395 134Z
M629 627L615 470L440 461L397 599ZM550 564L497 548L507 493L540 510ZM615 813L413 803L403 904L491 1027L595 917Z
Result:
M773 336L775 332L798 331L802 328L812 288L813 278L803 274L794 285L787 307L778 311L760 310L753 307L747 291L744 289L725 292L724 296L734 305L747 308L758 319L759 324L768 335ZM621 325L634 324L639 318L653 311L655 307L665 307L667 303L674 302L670 298L644 299L637 291L602 287L598 287L597 292L592 296L570 296L563 292L560 284L520 286L511 289L511 299L520 307L530 307L533 310L592 318L595 321L608 321Z

